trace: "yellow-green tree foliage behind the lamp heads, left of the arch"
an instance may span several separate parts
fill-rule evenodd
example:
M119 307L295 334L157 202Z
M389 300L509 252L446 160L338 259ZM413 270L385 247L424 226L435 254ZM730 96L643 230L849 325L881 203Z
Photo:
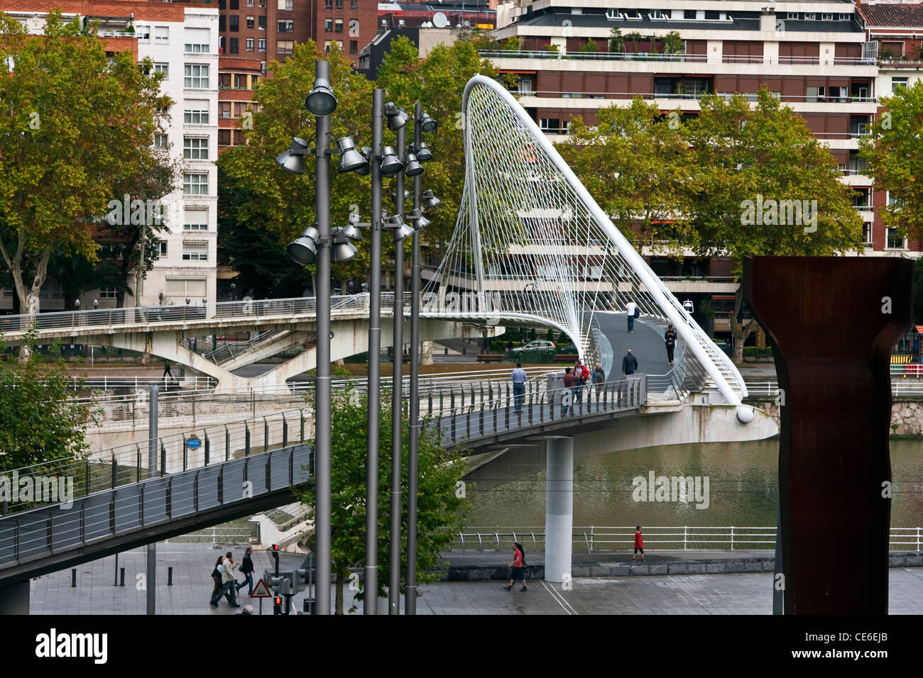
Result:
M426 163L423 185L425 190L433 190L442 202L426 213L432 223L422 237L425 244L448 240L462 199L462 90L475 73L495 74L493 67L477 54L476 36L468 38L451 46L438 44L423 61L406 38L391 42L390 54L378 71L377 82L356 74L352 62L336 49L322 54L310 41L298 44L284 64L271 64L274 77L261 82L254 95L259 110L253 116L252 129L245 132L246 145L228 150L218 161L222 172L219 202L228 200L239 206L236 214L222 208L219 229L222 263L234 268L240 263L254 272L260 270L269 280L279 280L291 289L284 281L291 280L289 271L294 265L282 253L285 244L315 220L314 172L301 176L284 172L276 166L275 157L289 147L292 137L302 137L314 145L314 118L306 111L304 101L314 81L317 59L330 61L330 82L338 99L337 110L330 117L332 140L351 136L359 148L371 145L371 102L375 87L385 88L386 101L394 101L409 113L413 113L414 102L420 101L424 111L438 120L437 131L424 136L434 158ZM409 143L413 140L410 125L407 134ZM395 133L387 126L384 145L395 146ZM311 161L313 158L306 157L306 162ZM334 156L334 165L336 161ZM394 192L394 184L393 179L385 178L383 207L392 213L395 204L390 194ZM333 226L345 223L354 209L362 220L370 219L370 177L353 172L339 174L334 169L330 186ZM412 187L412 180L407 180L405 188ZM410 208L409 202L406 207ZM257 250L251 247L256 240L260 248ZM276 243L274 253L272 242ZM405 245L409 247L409 239ZM385 262L393 259L393 253L393 239L382 238L383 260L375 265L384 268ZM368 247L360 246L354 259L337 264L332 273L342 280L366 280L372 266L369 256ZM310 280L313 269L309 267L303 273L305 280ZM247 280L255 278L248 276ZM252 283L242 280L242 284Z

